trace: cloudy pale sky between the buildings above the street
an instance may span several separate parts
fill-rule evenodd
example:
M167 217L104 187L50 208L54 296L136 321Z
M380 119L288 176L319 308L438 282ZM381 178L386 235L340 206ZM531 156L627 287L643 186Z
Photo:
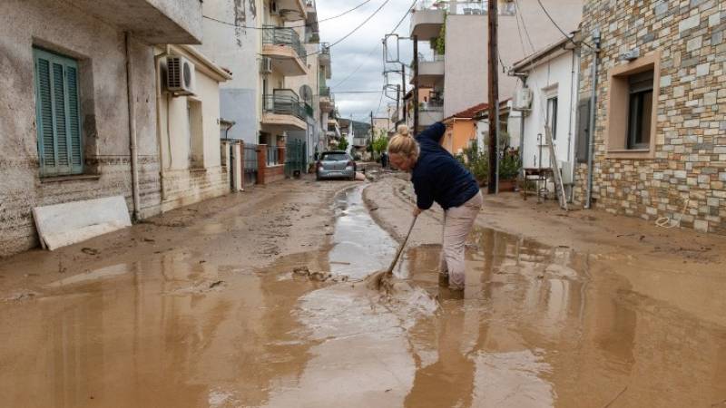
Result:
M317 0L318 19L340 15L365 0ZM358 24L372 15L385 0L370 0L368 4L357 10L319 24L320 41L335 43L350 33ZM368 121L369 112L376 116L385 116L385 106L393 102L385 96L381 101L380 93L343 93L346 91L380 91L383 87L383 51L381 40L385 34L396 26L406 14L412 0L389 0L377 15L363 25L354 34L330 50L333 77L328 81L331 91L335 92L338 112L344 118L353 115L355 120ZM398 27L397 34L408 35L408 16ZM393 44L391 44L393 46ZM419 46L421 43L419 42ZM426 45L425 45L426 47ZM410 63L412 45L402 41L400 47L401 60ZM390 50L395 53L395 50ZM358 71L356 71L358 70ZM352 75L351 75L352 74ZM393 76L393 75L391 75ZM400 74L397 74L400 77ZM348 79L346 79L348 78ZM407 85L410 86L410 85ZM380 111L376 113L380 102Z

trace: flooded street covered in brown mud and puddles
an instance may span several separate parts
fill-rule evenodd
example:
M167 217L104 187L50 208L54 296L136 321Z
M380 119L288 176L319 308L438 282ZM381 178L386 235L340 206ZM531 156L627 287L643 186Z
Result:
M429 211L381 296L357 281L410 220L396 186L286 181L3 261L0 406L726 406L721 262L479 226L456 299Z

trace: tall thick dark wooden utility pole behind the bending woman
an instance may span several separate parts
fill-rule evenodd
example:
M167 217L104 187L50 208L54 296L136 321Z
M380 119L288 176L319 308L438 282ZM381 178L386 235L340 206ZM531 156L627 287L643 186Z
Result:
M498 10L496 7L496 1L487 2L487 16L489 20L489 42L488 42L488 74L489 74L489 183L486 189L489 194L496 193L496 181L497 181L497 149L498 149L498 135L499 130L496 129L498 121L498 108L499 108L499 75L497 70L497 63L499 63L499 53L496 49L497 40L497 24L498 24Z

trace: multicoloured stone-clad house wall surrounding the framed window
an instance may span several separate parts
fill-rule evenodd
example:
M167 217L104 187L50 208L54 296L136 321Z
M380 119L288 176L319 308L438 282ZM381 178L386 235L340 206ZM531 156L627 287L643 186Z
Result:
M582 33L602 32L594 154L595 208L726 234L726 2L587 0ZM634 47L660 50L660 97L653 159L606 157L608 71ZM590 97L593 56L583 46L580 98ZM658 86L658 84L655 84ZM586 165L574 198L584 202Z

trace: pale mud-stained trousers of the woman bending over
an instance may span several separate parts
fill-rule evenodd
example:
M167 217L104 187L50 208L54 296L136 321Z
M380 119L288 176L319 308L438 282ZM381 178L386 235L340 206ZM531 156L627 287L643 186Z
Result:
M464 264L464 249L466 236L474 226L476 216L482 208L484 199L479 191L476 196L459 207L452 207L444 211L444 242L439 270L442 274L448 273L449 287L464 288L466 281L466 268Z

